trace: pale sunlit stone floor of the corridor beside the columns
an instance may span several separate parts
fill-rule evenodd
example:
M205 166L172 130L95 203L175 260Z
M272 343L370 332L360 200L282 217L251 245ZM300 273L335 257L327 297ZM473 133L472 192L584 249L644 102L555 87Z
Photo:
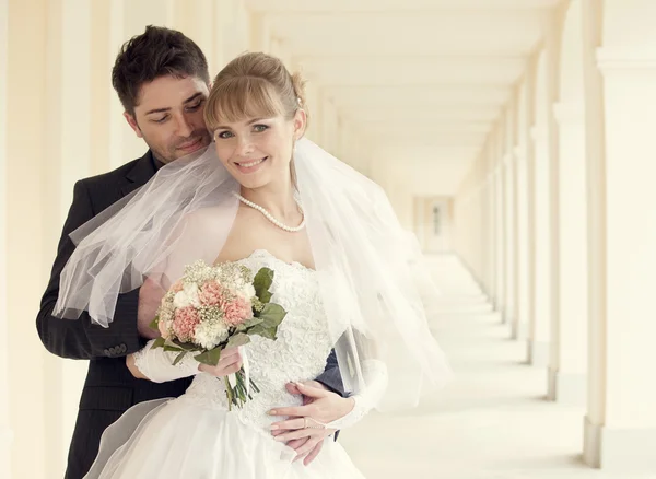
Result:
M431 327L456 373L417 410L370 414L340 436L367 478L655 479L584 465L584 408L546 399L547 371L527 365L467 270L430 258L442 296ZM656 445L655 445L656 451Z

